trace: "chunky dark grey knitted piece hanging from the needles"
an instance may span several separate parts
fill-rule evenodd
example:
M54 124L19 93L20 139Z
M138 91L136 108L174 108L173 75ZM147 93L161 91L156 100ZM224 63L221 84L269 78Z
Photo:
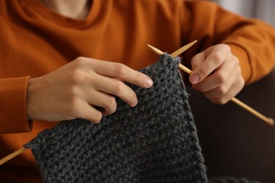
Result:
M164 54L140 70L154 85L128 84L139 99L134 108L116 99L116 113L97 125L61 122L25 144L44 182L207 182L179 63Z

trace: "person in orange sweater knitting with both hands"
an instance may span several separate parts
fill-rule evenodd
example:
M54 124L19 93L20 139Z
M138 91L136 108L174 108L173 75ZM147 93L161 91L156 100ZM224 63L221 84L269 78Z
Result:
M137 71L157 61L147 44L172 53L196 39L183 65L219 104L275 63L273 27L208 1L3 0L0 17L0 157L62 120L98 123L114 96L138 105L124 82L154 83ZM0 166L0 179L41 182L30 151Z

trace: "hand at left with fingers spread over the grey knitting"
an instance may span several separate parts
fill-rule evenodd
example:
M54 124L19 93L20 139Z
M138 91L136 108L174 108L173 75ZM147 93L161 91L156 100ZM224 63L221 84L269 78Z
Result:
M152 80L121 63L79 57L42 77L29 81L27 115L30 120L61 121L83 118L98 123L116 111L118 96L130 106L137 96L123 81L151 87ZM98 111L95 106L103 108Z

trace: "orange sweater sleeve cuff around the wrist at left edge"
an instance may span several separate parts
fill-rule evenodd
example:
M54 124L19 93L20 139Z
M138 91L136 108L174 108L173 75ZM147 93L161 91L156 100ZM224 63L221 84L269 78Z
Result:
M0 133L29 132L27 83L30 77L0 79Z

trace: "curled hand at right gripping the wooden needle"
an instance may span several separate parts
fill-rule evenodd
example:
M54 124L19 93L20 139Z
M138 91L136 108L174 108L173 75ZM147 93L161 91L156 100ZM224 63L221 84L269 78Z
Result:
M227 103L243 89L245 82L238 58L226 44L217 44L198 53L191 65L192 87L214 103Z

